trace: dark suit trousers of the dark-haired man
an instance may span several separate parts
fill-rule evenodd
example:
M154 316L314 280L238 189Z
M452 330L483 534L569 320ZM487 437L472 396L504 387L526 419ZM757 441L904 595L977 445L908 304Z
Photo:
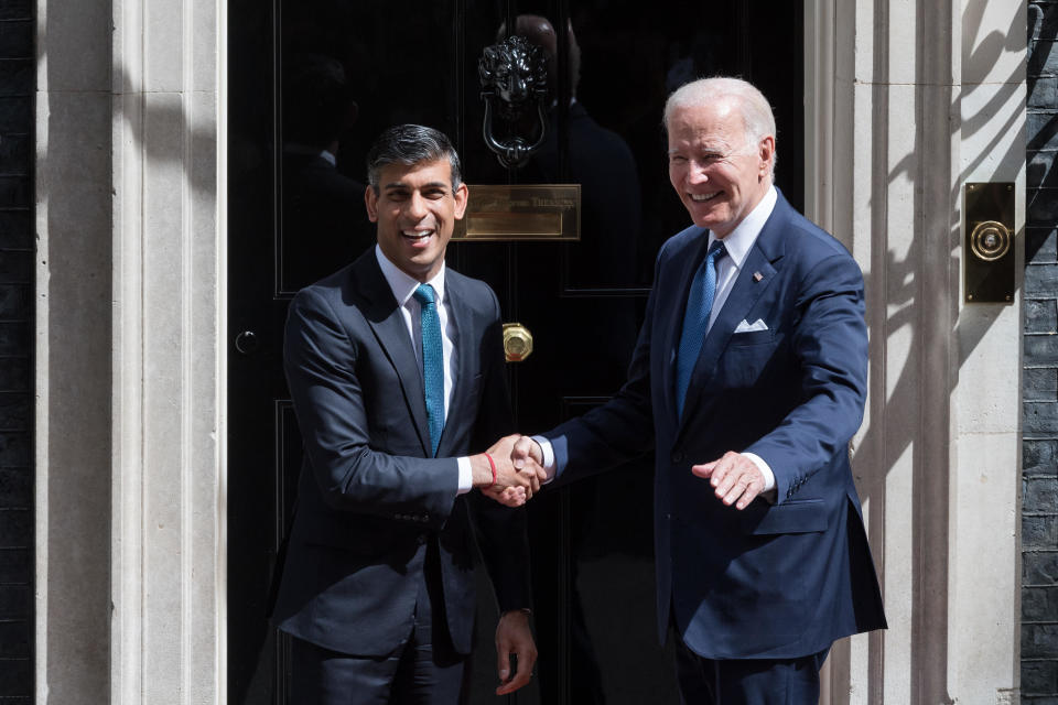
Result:
M290 702L299 705L457 705L469 659L455 651L436 543L427 554L408 638L390 654L358 657L291 637ZM356 626L350 626L356 629Z

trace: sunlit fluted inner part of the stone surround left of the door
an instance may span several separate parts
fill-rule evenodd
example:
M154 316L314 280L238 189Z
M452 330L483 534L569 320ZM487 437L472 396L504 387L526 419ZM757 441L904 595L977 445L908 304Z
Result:
M227 12L114 0L112 702L224 699Z

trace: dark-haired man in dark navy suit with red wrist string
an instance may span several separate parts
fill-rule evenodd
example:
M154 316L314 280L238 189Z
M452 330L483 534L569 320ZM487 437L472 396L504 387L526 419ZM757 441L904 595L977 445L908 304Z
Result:
M499 304L444 264L467 200L444 134L387 130L368 181L377 247L302 290L287 323L305 456L273 621L292 637L292 702L462 699L472 520L501 611L497 693L509 693L536 660L528 545L523 510L492 499L523 503L539 479L511 466L517 436L469 455L511 425Z

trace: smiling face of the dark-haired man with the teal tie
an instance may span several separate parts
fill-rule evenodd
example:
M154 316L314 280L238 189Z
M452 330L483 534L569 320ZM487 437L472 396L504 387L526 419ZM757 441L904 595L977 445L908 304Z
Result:
M446 159L412 165L387 164L379 172L378 194L364 194L367 216L378 224L382 254L420 282L441 271L455 221L466 210L466 184L452 187Z

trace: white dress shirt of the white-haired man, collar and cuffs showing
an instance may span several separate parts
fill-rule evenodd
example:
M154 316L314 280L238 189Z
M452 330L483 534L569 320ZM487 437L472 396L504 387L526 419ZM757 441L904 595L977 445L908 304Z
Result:
M706 335L713 327L713 323L716 321L716 316L720 315L720 311L727 302L727 296L735 286L735 281L738 279L738 273L746 263L746 258L749 256L749 250L753 249L753 243L757 241L757 236L759 236L760 230L764 229L764 224L771 217L776 200L778 200L778 193L776 193L775 186L771 186L767 193L765 193L760 203L742 219L742 223L735 226L734 230L727 234L727 237L723 238L726 257L721 257L716 261L716 293L713 296L713 310L709 314L709 325L705 328ZM716 236L710 231L706 250L716 239ZM540 449L543 453L543 466L548 473L548 481L550 481L554 477L555 471L554 449L551 447L551 442L543 436L532 436L532 438L540 444ZM775 492L773 490L775 489L775 473L771 471L771 467L765 463L764 458L754 453L743 453L742 455L749 458L760 470L760 474L764 475L764 490L762 490L762 495L768 501L774 502ZM703 458L702 462L708 463L709 460ZM765 495L765 492L767 492L767 495Z

